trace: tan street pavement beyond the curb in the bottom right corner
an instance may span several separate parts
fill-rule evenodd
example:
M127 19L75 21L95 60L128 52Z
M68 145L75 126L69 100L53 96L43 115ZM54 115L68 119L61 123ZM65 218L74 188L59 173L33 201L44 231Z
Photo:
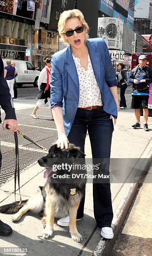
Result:
M152 255L152 167L137 190L110 256Z

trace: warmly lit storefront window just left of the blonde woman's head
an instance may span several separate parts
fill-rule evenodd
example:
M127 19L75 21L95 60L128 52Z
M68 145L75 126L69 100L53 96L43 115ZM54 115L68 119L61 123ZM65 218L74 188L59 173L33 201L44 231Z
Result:
M45 66L45 59L59 51L59 34L43 29L33 29L32 46L33 66L35 66L37 70L42 70Z

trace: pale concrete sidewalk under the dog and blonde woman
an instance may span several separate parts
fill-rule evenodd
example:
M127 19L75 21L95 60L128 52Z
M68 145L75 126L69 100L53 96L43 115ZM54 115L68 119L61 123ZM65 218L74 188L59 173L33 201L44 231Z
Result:
M128 202L128 205L130 202L130 195L128 194L130 182L126 183L126 179L129 181L134 179L134 184L136 184L139 175L132 176L132 173L135 174L136 171L137 173L142 173L142 170L147 168L148 157L151 157L152 153L152 118L149 118L148 121L150 126L149 132L143 130L143 118L141 118L141 129L133 129L131 125L135 123L135 116L134 111L130 109L130 101L127 101L128 108L126 110L119 111L119 118L112 138L110 172L111 180L115 180L115 183L111 184L112 205L115 213L113 225L119 220L120 205L122 204L123 208L125 202ZM25 103L27 104L26 108L30 108L35 105L36 100L30 102L29 100L28 102L15 100L15 102L16 109L24 108ZM85 143L85 154L87 155L86 158L91 158L88 136ZM118 162L118 158L122 160ZM119 171L119 175L115 175L116 170ZM123 175L122 171L125 171ZM43 172L44 169L35 164L20 174L20 190L23 200L29 198L38 186L45 184ZM128 179L128 176L131 178ZM0 187L0 205L14 201L13 191L13 179ZM126 198L125 201L123 201L124 198ZM125 208L127 209L127 207ZM109 246L106 241L102 240L100 229L96 227L93 215L92 184L90 183L87 183L86 188L85 217L77 222L77 228L83 237L82 243L73 242L70 238L69 229L59 227L57 224L54 225L53 238L49 240L42 239L43 228L39 216L32 215L30 212L27 212L18 223L12 223L10 215L1 215L0 218L11 225L14 230L12 236L0 237L2 238L0 239L0 246L27 248L30 255L103 255L105 247ZM2 250L1 248L0 255L3 255ZM18 253L17 255L26 254ZM12 255L15 255L15 253L12 253Z

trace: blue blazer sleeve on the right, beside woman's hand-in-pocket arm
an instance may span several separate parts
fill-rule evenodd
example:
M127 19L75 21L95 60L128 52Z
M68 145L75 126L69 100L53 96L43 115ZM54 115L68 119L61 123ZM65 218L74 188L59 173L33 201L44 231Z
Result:
M106 83L109 87L113 87L113 86L117 86L117 81L116 81L116 75L115 75L115 72L113 70L113 67L112 67L112 61L111 61L111 58L110 58L110 53L108 51L108 48L107 48L107 44L104 42L104 48L105 48L105 61L106 61L106 64L105 64L105 80L106 80Z

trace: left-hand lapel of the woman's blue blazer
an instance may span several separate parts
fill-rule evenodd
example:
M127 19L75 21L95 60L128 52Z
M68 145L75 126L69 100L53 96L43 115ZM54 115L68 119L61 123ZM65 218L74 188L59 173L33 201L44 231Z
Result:
M79 92L79 77L77 75L77 69L75 66L75 61L72 57L72 51L70 46L67 47L65 58L67 63L66 65L67 72L70 74L70 77L72 78L73 82L77 86L77 90Z

